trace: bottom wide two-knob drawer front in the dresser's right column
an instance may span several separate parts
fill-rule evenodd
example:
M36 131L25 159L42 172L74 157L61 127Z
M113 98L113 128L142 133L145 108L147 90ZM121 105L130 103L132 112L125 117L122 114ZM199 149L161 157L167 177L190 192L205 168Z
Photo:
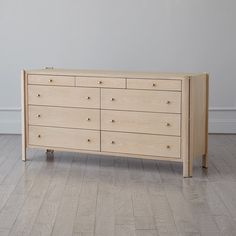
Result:
M102 131L101 151L180 158L180 138Z

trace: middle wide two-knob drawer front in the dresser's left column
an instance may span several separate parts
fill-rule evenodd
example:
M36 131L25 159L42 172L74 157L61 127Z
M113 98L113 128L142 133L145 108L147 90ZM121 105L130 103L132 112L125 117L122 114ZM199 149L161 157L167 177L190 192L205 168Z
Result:
M100 111L30 105L29 124L100 130Z

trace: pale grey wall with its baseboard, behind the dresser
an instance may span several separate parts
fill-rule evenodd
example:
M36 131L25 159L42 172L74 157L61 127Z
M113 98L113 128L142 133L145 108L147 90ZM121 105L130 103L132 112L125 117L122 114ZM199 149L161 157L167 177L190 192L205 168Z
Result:
M210 131L236 132L235 0L1 0L0 132L20 132L20 70L209 72Z

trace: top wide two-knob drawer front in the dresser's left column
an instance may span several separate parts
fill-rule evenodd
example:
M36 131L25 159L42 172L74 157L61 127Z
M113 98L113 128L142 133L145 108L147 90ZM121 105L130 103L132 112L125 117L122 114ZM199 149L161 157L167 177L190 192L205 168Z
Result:
M28 101L32 105L99 108L100 91L97 88L28 85Z

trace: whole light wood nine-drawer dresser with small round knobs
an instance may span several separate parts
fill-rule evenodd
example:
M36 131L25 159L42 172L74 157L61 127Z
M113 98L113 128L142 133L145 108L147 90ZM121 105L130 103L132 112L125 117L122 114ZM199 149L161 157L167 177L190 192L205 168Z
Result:
M27 148L118 155L207 167L208 74L22 71Z

